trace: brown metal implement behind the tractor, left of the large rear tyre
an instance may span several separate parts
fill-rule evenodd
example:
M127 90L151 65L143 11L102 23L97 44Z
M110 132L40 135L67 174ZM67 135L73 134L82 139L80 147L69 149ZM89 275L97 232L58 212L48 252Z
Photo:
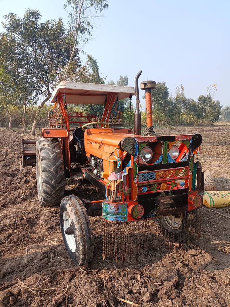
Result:
M21 167L25 166L35 166L36 164L36 140L23 140L22 139L22 159ZM29 146L24 146L29 145Z

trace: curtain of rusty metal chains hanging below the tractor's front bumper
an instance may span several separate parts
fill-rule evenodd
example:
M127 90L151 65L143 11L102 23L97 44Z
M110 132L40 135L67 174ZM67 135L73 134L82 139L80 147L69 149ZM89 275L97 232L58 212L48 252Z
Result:
M170 243L187 242L200 231L201 208L183 213L183 223L177 233L164 228L159 219L144 219L135 222L104 222L103 253L114 258L154 247L154 239L163 236Z

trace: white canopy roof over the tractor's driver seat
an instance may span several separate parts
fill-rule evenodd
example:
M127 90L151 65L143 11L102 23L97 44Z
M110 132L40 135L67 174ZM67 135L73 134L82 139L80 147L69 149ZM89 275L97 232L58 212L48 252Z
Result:
M51 102L55 102L58 92L64 95L66 90L66 103L104 104L106 95L115 93L118 100L135 95L134 87L109 84L78 83L62 81L52 93ZM117 97L115 96L114 101Z

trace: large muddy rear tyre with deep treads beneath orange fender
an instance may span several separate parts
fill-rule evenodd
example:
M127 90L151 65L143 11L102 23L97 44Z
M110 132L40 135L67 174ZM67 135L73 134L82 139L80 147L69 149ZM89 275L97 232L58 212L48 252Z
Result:
M57 138L37 138L36 175L42 206L59 205L65 191L62 148Z

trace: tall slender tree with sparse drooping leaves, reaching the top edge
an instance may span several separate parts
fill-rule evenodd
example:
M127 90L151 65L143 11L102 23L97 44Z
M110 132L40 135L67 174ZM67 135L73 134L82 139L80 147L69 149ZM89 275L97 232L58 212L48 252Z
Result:
M67 0L64 8L70 8L68 21L68 40L71 45L70 59L66 67L65 79L70 64L76 53L76 48L90 40L93 30L93 19L97 17L98 11L102 13L108 8L107 0Z

